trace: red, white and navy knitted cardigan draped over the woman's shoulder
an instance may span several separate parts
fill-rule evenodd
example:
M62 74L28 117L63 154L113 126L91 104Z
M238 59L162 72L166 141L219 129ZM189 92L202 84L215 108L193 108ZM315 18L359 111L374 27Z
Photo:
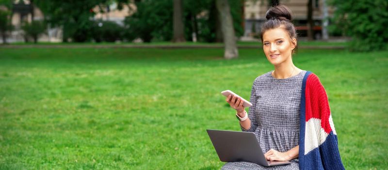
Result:
M319 78L307 71L302 83L300 170L344 170L329 102Z

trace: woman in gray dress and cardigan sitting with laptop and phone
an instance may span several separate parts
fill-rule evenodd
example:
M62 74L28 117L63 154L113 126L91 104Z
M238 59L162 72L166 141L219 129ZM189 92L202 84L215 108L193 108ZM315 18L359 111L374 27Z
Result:
M249 114L240 98L229 95L226 102L236 109L242 131L256 134L267 160L292 163L267 168L228 162L222 169L344 169L324 88L315 74L292 63L297 37L290 9L278 5L265 17L261 42L275 69L255 79Z

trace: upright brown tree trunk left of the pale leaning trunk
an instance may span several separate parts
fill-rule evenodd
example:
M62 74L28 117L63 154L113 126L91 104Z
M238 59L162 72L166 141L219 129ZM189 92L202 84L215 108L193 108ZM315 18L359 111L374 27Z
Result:
M183 33L183 10L182 0L174 0L174 38L173 42L185 42Z

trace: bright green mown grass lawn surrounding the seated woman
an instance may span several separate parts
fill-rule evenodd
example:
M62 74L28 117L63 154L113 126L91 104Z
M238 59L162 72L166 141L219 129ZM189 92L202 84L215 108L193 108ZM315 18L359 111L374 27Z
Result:
M0 169L219 169L206 129L240 130L261 49L0 49ZM388 167L388 51L303 50L323 83L345 168Z

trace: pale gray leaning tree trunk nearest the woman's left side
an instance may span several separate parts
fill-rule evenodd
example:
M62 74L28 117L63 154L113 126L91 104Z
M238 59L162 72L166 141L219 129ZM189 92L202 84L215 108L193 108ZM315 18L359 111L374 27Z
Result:
M226 59L238 58L239 51L236 45L233 20L230 14L230 7L227 0L216 0L217 10L221 17L222 33L224 35L224 46Z

